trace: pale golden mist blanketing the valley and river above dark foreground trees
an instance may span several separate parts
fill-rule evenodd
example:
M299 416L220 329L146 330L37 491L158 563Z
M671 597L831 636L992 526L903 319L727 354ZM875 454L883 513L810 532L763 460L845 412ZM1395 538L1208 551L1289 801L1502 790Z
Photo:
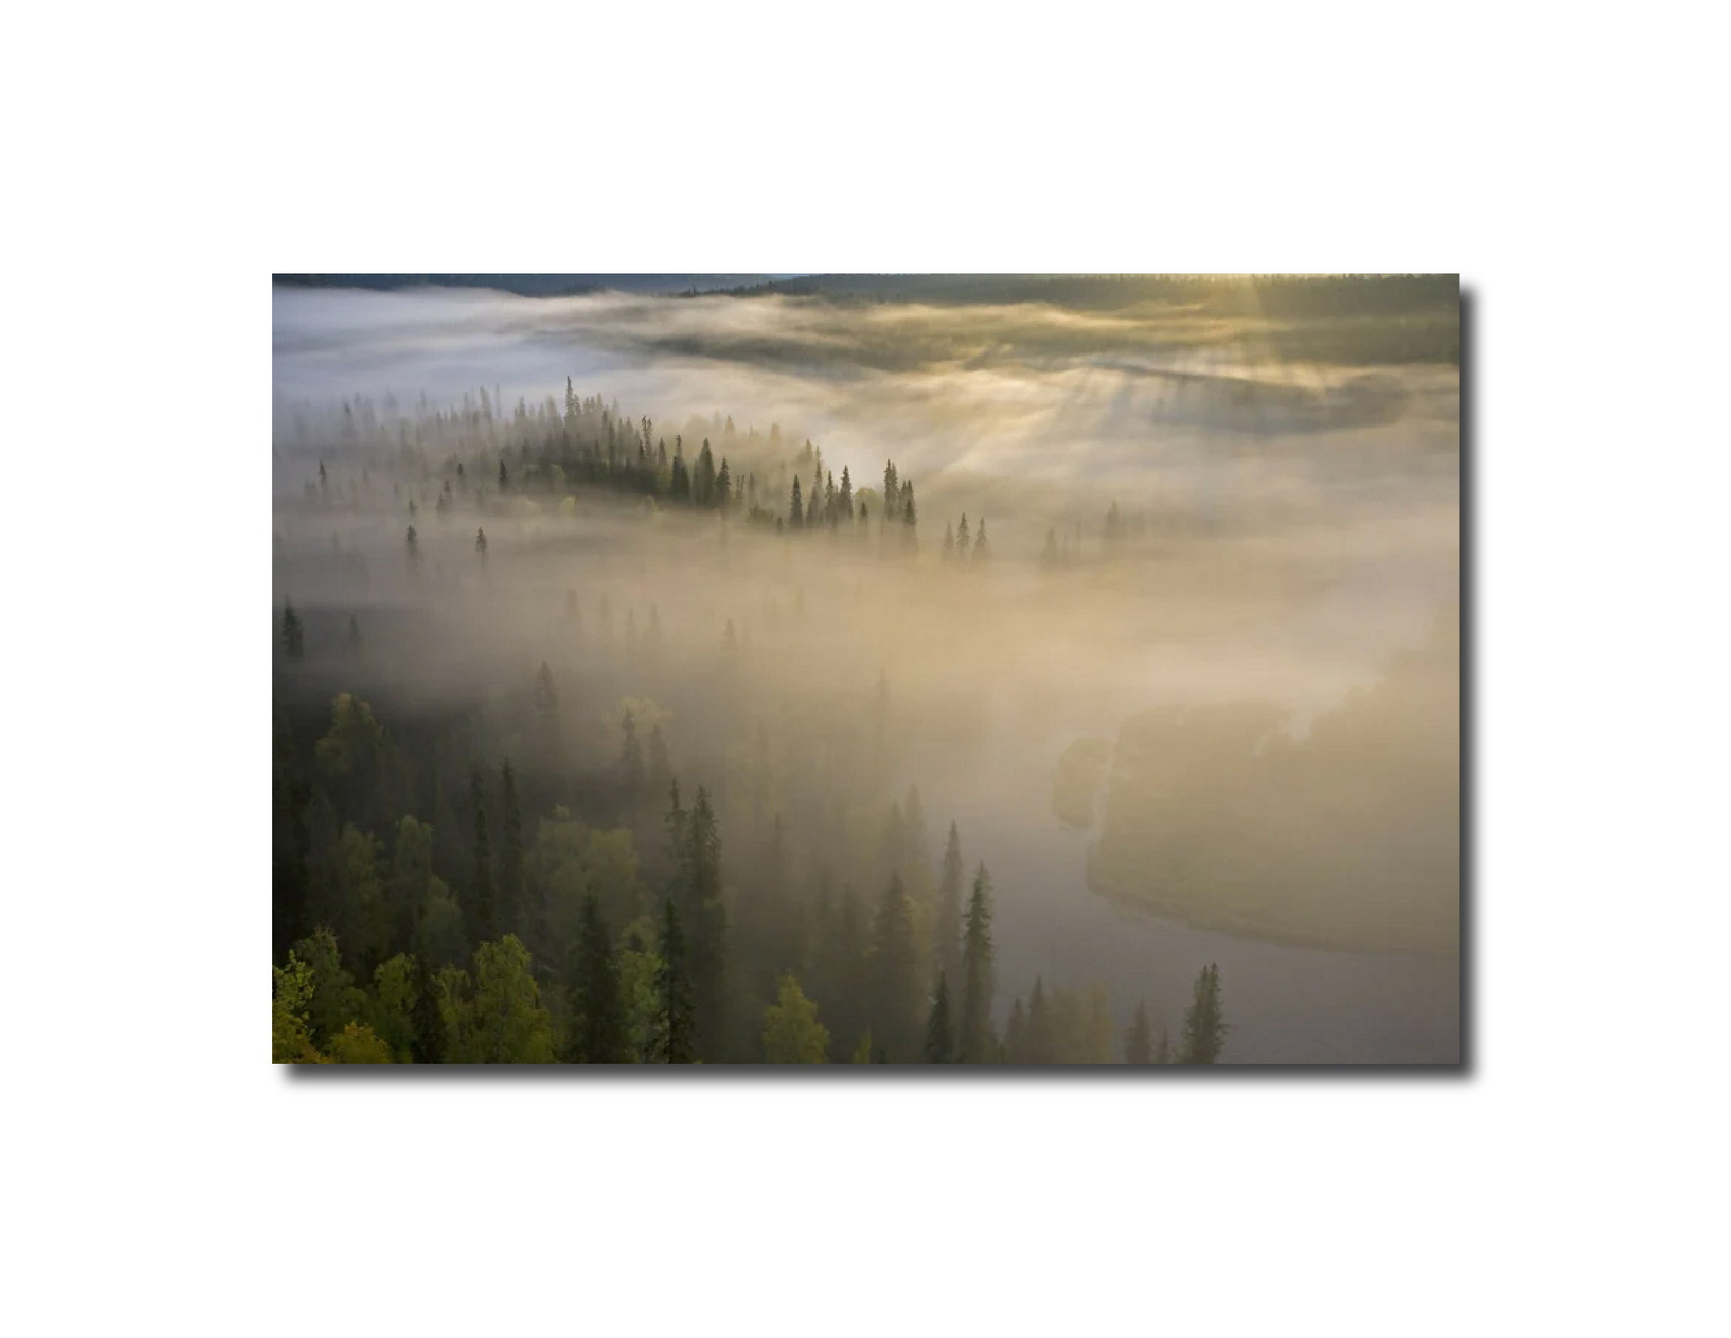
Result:
M1459 376L1295 324L279 289L279 730L367 699L434 831L509 760L533 843L628 715L734 878L775 829L864 904L914 788L1001 1026L1040 978L1175 1035L1219 961L1227 1059L1454 1061Z

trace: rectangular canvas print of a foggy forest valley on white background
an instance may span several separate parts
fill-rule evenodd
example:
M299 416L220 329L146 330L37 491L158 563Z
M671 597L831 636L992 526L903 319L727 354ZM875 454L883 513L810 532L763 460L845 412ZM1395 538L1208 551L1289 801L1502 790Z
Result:
M1452 279L544 279L277 289L275 1059L1458 1061Z

